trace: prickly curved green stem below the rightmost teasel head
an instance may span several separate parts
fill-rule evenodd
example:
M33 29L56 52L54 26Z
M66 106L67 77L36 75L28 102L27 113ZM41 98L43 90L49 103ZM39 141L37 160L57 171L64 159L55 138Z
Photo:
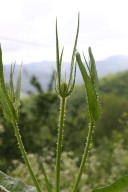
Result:
M86 147L85 147L84 154L83 154L83 157L82 157L82 161L81 161L81 164L80 164L80 168L79 168L79 171L78 171L78 175L77 175L75 184L73 186L73 192L77 191L77 188L78 188L78 185L79 185L82 173L83 173L83 169L84 169L84 166L85 166L85 163L86 163L86 160L87 160L87 156L88 156L88 152L89 152L89 147L90 147L90 144L91 144L93 127L94 127L94 122L90 122L89 132L88 132L88 136L87 136L87 143L86 143Z

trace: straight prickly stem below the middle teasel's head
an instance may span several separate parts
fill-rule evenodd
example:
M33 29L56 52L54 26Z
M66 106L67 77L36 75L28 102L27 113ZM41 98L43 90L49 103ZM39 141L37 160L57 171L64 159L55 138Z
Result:
M66 98L61 97L60 116L58 125L57 154L56 154L56 192L60 192L60 160L62 152L65 106L66 106Z

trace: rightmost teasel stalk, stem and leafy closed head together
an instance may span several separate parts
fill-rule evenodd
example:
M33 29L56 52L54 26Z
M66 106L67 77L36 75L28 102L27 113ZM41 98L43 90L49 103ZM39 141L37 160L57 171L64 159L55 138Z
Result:
M79 185L79 182L85 167L85 163L88 157L95 122L101 116L100 99L98 94L99 81L98 81L98 75L97 75L97 70L95 65L95 59L90 47L88 49L88 53L89 53L89 62L86 61L85 56L83 54L86 67L84 66L81 60L81 56L79 52L76 53L76 60L84 80L84 85L85 85L86 103L87 103L88 118L89 118L89 126L88 126L89 130L88 130L87 141L84 149L84 154L82 156L79 171L73 186L73 192L77 192L78 190L78 185Z

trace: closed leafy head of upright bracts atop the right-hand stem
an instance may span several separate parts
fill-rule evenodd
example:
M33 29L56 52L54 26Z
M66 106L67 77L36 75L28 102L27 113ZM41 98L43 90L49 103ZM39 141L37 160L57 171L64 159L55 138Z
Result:
M95 61L91 52L91 48L89 48L89 57L90 57L89 64L85 60L88 68L88 73L87 73L87 70L84 64L82 63L80 54L78 52L76 54L76 60L79 65L79 68L84 80L84 84L85 84L86 100L87 100L90 119L91 121L95 122L101 116L101 107L100 107L100 101L98 96L98 77L97 77Z

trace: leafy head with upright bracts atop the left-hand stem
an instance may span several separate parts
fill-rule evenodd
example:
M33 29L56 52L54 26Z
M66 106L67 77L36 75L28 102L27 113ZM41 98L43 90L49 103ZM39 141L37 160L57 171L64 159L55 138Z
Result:
M2 62L2 50L0 47L0 102L2 105L2 110L5 118L11 123L17 121L19 117L20 90L21 90L21 70L18 75L16 90L14 90L13 86L13 74L15 68L14 66L11 66L9 88L6 89L4 81L3 62Z

